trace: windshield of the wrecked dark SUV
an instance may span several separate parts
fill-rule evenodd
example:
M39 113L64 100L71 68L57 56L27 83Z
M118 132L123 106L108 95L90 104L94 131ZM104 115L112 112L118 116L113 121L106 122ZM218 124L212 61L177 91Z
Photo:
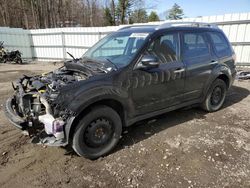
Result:
M116 32L104 37L91 47L84 57L109 61L116 67L130 63L136 52L143 46L149 33Z

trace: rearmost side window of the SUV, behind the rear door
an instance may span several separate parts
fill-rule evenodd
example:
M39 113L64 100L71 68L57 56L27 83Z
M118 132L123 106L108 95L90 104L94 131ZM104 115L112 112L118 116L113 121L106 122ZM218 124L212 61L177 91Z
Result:
M230 56L231 49L224 35L217 32L208 32L214 45L216 54L219 57Z

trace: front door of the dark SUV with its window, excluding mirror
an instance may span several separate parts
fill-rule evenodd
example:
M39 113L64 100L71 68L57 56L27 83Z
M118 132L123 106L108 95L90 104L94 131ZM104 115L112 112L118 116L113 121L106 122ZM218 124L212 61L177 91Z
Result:
M184 91L185 68L179 60L178 33L156 37L144 54L157 57L160 65L148 69L135 66L133 70L132 100L136 115L179 104Z

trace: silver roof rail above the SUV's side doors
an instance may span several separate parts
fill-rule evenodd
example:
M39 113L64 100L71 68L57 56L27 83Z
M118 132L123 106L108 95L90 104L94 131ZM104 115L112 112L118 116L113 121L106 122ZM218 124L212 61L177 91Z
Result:
M203 22L165 22L159 25L156 29L164 29L169 27L210 27L218 29L216 24Z

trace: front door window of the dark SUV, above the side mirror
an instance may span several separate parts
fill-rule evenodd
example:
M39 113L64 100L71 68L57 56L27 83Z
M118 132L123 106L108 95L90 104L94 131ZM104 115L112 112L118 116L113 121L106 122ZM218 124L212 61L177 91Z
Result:
M160 63L171 63L177 61L178 34L166 34L156 38L148 47L147 53L158 58Z

